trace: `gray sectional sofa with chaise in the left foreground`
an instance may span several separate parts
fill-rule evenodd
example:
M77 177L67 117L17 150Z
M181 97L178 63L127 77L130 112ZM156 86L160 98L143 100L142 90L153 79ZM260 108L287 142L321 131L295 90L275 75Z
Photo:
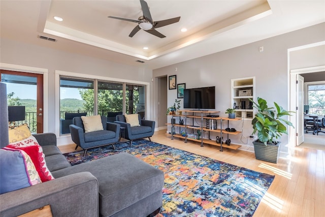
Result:
M57 148L55 134L34 136L55 179L0 195L0 216L48 204L53 216L154 216L159 211L162 171L128 153L71 166Z

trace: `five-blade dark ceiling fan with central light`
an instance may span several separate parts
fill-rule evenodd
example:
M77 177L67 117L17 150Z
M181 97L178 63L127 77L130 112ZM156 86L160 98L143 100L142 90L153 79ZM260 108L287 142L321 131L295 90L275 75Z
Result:
M133 37L136 33L139 32L140 29L145 30L147 33L150 33L159 38L165 38L163 34L159 33L155 28L163 27L166 25L170 25L179 21L181 17L175 17L167 20L153 21L151 18L151 14L149 11L148 4L144 0L140 0L143 16L140 16L137 20L128 19L122 17L113 17L109 16L109 18L125 20L129 22L136 22L138 25L132 30L132 32L128 35L129 37Z

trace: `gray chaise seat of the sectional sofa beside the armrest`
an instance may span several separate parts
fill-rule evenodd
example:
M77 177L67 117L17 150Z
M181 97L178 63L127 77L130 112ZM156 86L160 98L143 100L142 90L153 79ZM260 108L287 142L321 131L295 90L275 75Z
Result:
M110 216L158 192L164 172L125 152L53 172L55 178L88 171L99 182L100 213Z

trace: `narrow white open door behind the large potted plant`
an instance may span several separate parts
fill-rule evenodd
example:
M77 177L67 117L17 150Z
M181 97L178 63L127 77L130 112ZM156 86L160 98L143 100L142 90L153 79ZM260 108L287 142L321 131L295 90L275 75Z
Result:
M305 141L304 138L304 77L297 74L296 86L296 107L297 107L297 139L296 145L300 145Z

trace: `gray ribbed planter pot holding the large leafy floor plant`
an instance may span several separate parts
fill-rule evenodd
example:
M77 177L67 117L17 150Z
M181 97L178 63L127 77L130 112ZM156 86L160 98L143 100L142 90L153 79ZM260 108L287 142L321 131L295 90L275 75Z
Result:
M278 163L279 159L279 148L281 142L276 145L268 144L267 146L262 142L253 141L255 158L257 160L267 161L271 163Z

